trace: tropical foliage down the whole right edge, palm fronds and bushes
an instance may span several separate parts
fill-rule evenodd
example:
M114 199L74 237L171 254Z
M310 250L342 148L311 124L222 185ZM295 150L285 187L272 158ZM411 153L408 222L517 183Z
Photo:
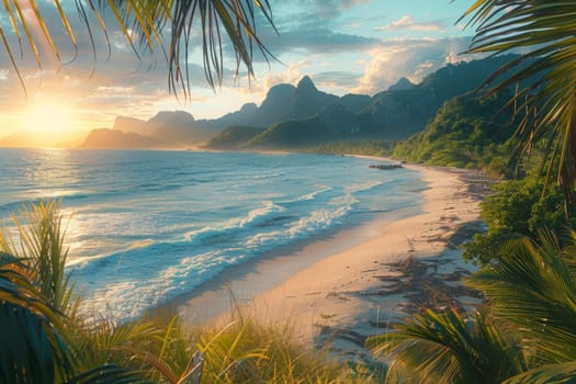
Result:
M574 1L477 0L464 15L477 25L471 52L528 48L488 81L504 78L492 94L517 87L513 155L542 148L545 171L499 184L484 204L488 233L467 249L484 266L465 281L482 304L427 310L369 341L391 361L388 382L576 381L575 13Z

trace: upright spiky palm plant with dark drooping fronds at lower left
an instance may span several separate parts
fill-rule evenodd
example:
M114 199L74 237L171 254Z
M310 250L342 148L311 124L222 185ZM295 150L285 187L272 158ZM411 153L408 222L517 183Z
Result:
M143 382L137 370L91 360L80 348L59 203L24 206L12 219L16 238L0 230L0 382Z

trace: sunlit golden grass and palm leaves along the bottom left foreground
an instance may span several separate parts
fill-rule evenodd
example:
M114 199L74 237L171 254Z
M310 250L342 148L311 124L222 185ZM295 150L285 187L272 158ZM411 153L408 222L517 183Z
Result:
M0 233L2 383L371 382L370 372L292 341L287 323L238 317L187 329L177 316L121 323L87 310L65 268L59 204L39 202L12 218L15 234Z

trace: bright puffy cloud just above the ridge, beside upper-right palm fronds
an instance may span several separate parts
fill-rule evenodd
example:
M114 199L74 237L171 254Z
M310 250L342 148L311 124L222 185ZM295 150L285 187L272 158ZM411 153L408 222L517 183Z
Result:
M427 75L449 63L467 61L479 56L459 55L471 37L391 39L370 50L370 59L361 63L364 72L353 92L373 94L387 89L399 78L419 82Z

